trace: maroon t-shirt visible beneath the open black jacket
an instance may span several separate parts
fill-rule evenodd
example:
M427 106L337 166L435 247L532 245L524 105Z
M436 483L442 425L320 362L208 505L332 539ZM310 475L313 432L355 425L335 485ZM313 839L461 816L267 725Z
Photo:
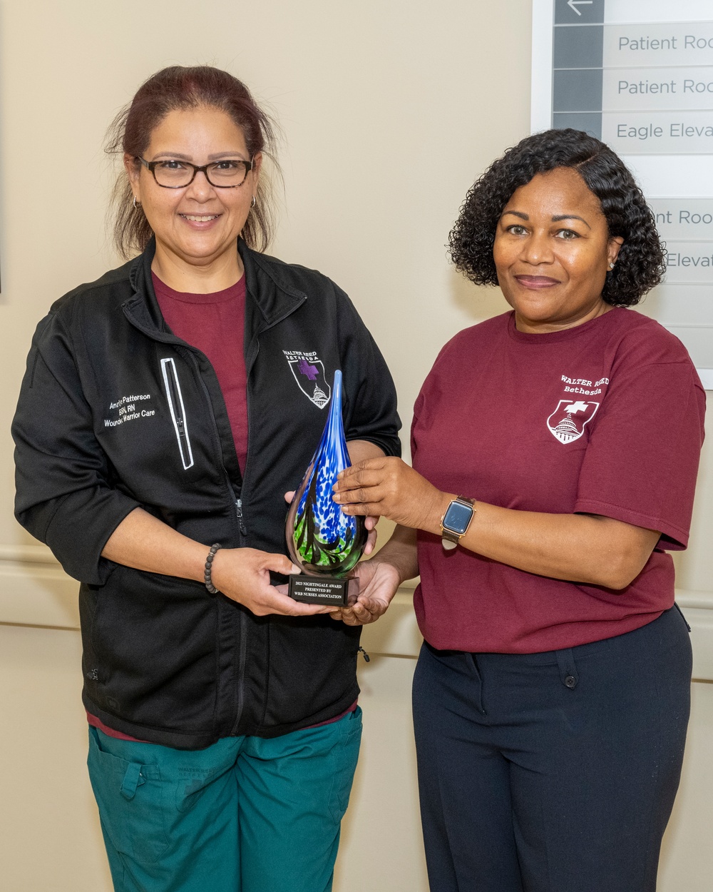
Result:
M242 472L248 456L248 377L245 334L245 277L212 294L174 291L152 273L153 290L168 327L209 358L223 392Z

